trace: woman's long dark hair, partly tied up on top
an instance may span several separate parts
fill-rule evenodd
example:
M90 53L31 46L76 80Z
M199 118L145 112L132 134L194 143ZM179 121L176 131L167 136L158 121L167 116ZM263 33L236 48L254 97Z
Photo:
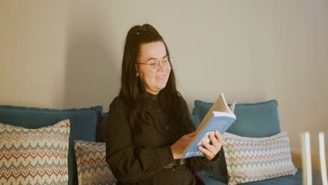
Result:
M128 107L128 117L132 126L144 119L144 110L146 107L144 102L146 90L144 85L142 85L142 81L137 77L135 62L137 62L137 57L140 54L140 46L143 43L156 41L164 43L166 53L170 56L168 46L163 37L149 24L132 27L125 39L121 71L121 90L118 97L122 97ZM174 70L171 69L168 83L166 83L165 88L158 93L158 100L163 109L167 107L176 107L179 109L179 104L175 106L175 103L180 102L179 100L181 97L176 88ZM179 111L177 114L179 114Z

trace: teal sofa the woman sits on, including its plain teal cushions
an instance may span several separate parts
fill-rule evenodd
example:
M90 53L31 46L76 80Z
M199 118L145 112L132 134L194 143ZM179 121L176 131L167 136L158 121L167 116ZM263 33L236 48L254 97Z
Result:
M212 103L195 101L191 120L197 127ZM278 102L271 100L257 104L237 104L235 114L237 120L227 132L245 137L266 137L280 132L278 118ZM76 158L74 155L74 140L104 142L104 125L107 122L107 113L103 113L102 106L85 109L41 109L34 107L14 107L0 105L0 123L22 126L25 128L40 128L53 125L58 121L69 119L71 135L69 137L69 184L78 184ZM110 115L109 115L110 116ZM221 149L221 160L211 171L198 172L198 176L206 184L227 184L228 175L224 160L224 151ZM313 184L320 184L314 173ZM302 184L301 170L294 176L279 177L247 184Z

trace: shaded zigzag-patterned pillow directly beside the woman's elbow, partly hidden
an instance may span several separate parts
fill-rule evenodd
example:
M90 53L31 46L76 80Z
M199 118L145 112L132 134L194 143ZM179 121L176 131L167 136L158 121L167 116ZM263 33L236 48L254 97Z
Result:
M106 144L76 140L78 184L116 184L116 179L106 162Z

